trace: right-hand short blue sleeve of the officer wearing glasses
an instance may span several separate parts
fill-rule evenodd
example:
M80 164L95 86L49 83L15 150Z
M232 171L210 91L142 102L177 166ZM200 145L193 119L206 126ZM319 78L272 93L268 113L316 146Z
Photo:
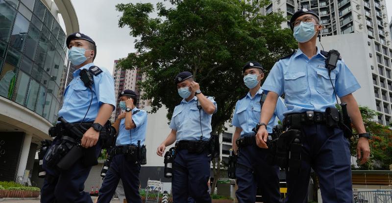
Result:
M357 79L355 79L354 75L351 73L351 71L348 69L348 67L344 64L342 60L340 63L340 70L338 75L336 76L335 81L336 94L339 97L343 97L360 88L361 86L359 85Z

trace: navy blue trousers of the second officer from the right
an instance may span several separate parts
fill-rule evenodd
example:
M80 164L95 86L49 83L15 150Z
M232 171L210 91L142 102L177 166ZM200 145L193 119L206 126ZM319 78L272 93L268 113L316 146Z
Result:
M236 177L239 203L256 202L257 187L264 203L280 203L279 167L266 162L268 149L256 145L241 147L238 152Z

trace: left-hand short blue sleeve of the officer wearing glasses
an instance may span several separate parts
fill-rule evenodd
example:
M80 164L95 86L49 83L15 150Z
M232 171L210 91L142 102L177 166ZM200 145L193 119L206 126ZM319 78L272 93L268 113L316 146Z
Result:
M267 91L273 91L278 95L281 95L283 93L283 87L284 87L283 73L279 66L279 61L278 61L272 67L261 89Z

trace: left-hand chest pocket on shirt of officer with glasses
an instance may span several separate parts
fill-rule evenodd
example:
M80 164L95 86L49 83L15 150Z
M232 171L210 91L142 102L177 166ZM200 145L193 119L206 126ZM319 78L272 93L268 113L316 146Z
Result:
M284 79L286 95L302 94L308 89L305 71L285 73Z

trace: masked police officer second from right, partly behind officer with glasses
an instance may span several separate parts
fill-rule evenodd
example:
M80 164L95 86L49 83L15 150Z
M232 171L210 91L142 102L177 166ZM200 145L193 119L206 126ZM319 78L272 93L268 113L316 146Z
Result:
M234 152L239 147L236 167L237 200L239 203L254 203L257 185L261 188L265 203L279 203L279 167L266 162L269 151L256 146L255 133L252 131L259 123L263 99L267 96L260 88L264 69L260 63L250 61L245 64L243 74L249 92L237 101L232 121L232 125L236 127L232 140ZM283 120L285 111L287 108L279 97L273 118L267 126L268 133L272 133L272 127L278 124L277 117ZM240 136L240 146L237 146L236 140Z

